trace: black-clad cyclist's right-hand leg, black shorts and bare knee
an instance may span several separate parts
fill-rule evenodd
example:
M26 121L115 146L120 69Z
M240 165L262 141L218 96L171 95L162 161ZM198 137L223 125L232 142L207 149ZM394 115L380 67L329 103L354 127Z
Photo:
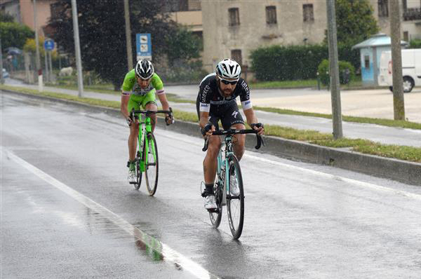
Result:
M244 125L243 116L239 112L239 107L235 102L229 105L224 112L224 116L221 118L222 126L225 130L227 129L236 129L242 130L246 129ZM241 160L244 154L244 145L246 144L246 135L237 134L232 137L233 149L236 158Z

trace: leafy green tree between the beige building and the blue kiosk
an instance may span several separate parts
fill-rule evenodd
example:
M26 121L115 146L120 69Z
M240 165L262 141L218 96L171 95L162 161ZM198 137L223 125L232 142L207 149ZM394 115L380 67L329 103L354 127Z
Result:
M338 44L354 46L379 32L368 0L336 0L335 8Z

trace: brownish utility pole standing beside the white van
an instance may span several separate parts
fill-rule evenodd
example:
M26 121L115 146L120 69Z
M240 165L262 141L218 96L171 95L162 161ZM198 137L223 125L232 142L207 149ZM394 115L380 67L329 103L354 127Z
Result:
M390 36L392 38L392 79L394 120L405 120L401 53L401 13L399 0L389 0Z

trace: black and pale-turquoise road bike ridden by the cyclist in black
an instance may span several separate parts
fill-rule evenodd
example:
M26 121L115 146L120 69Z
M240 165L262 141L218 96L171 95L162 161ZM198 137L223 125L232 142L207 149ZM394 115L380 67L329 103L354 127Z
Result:
M243 177L239 160L232 149L232 135L236 134L256 134L258 143L255 149L260 149L262 144L265 145L262 136L258 135L256 130L216 130L212 132L212 135L225 135L225 141L218 154L218 169L213 186L218 207L208 210L210 222L215 229L218 228L222 218L222 206L227 205L229 229L231 229L234 239L241 236L244 222ZM205 141L202 151L207 149L208 140Z

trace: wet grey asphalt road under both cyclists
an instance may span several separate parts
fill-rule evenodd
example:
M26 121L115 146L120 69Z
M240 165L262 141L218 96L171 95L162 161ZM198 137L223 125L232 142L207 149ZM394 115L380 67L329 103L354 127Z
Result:
M2 278L417 278L421 187L246 151L239 241L210 226L202 140L157 129L126 182L121 118L1 95ZM154 252L161 251L162 254Z

